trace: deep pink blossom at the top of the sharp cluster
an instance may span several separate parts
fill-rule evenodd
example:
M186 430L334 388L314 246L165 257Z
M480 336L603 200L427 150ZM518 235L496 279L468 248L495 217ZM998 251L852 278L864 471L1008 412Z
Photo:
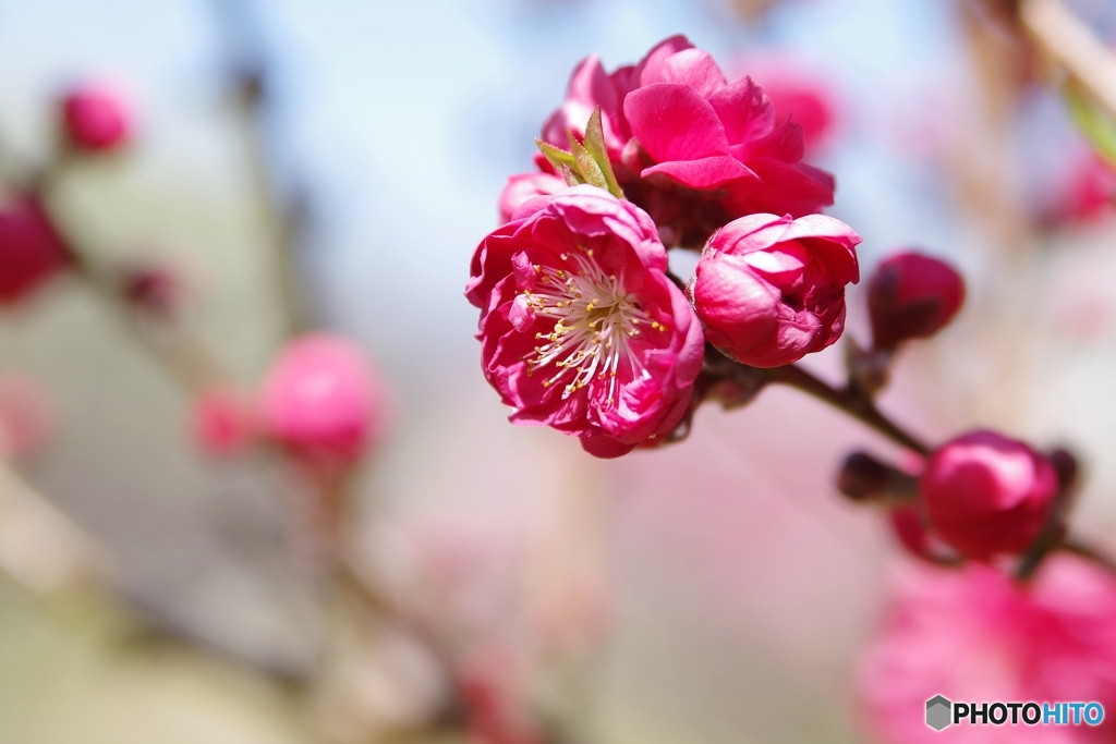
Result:
M801 216L833 204L833 176L800 163L801 126L777 122L751 78L729 83L685 37L612 74L586 58L542 138L566 147L566 131L584 136L597 106L617 181L670 245L701 245L745 214Z

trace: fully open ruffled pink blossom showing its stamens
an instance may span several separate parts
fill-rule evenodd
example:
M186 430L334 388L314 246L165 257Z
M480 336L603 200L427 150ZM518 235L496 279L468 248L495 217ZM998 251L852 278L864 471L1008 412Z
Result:
M484 375L514 410L615 457L671 431L701 370L701 326L643 210L594 186L540 196L481 241L465 297Z

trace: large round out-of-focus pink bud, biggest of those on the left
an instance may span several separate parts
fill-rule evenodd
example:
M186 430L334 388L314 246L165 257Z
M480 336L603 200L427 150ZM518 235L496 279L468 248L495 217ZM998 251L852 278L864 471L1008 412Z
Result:
M316 463L358 460L385 426L386 393L352 341L311 334L287 344L260 390L266 434Z

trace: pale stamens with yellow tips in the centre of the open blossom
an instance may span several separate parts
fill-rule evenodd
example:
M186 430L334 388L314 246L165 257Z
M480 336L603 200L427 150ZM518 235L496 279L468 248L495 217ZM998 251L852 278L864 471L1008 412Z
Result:
M562 253L560 258L564 262L573 259L576 272L535 264L539 283L523 291L536 316L557 319L550 334L535 335L542 345L525 355L527 374L554 365L554 376L542 385L565 381L562 399L594 380L603 385L607 379L607 407L615 400L616 371L623 361L633 376L648 376L632 349L632 339L639 336L641 326L654 330L665 330L665 326L644 312L624 287L623 276L604 272L591 250L583 245L573 257Z

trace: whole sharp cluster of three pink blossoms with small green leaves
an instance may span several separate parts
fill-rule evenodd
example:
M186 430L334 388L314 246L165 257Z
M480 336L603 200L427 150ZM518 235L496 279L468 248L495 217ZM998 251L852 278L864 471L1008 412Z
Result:
M676 438L723 393L706 345L772 368L840 337L860 239L818 214L833 176L750 77L730 83L683 37L613 73L589 57L541 134L465 290L513 422L615 457ZM668 249L701 251L687 280Z

